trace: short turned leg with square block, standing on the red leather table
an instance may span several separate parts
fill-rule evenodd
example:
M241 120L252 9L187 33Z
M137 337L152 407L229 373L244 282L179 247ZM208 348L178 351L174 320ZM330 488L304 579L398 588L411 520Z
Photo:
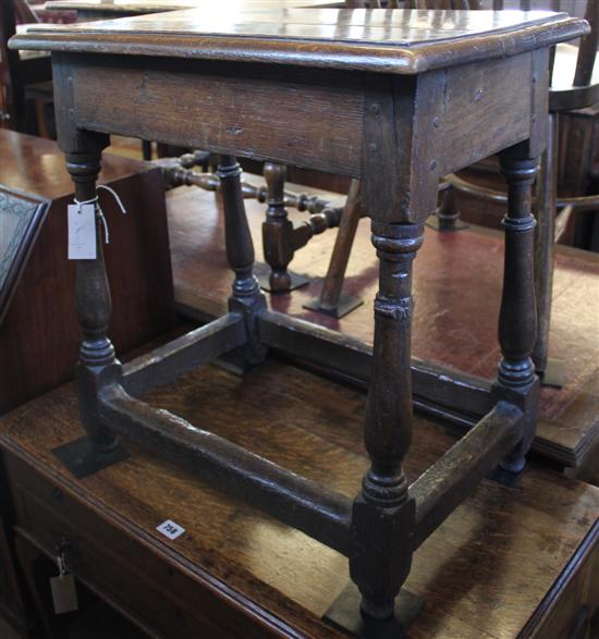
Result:
M286 293L292 284L288 266L293 259L293 223L288 218L284 195L286 168L267 162L264 175L267 209L262 224L262 244L265 260L270 267L269 288L272 293Z

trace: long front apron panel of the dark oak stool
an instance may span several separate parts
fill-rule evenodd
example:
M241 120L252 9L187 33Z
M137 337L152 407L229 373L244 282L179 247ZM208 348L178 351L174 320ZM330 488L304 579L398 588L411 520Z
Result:
M73 57L78 128L358 174L364 91L347 73ZM352 84L356 81L351 81Z

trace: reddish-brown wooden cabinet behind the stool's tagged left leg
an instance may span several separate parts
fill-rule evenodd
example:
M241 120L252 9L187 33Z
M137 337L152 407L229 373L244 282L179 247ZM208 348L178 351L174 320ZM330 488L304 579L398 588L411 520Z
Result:
M0 149L2 208L16 197L42 209L28 222L13 256L16 262L2 281L0 413L4 414L73 377L81 329L73 299L75 265L66 260L66 206L73 200L73 184L64 158L50 140L4 130L0 131ZM159 170L110 155L105 157L100 181L115 188L129 209L122 216L102 195L111 230L107 266L118 306L110 333L126 352L162 334L174 322L164 192ZM21 208L12 213L26 219ZM2 244L10 239L12 223L4 222L12 213L0 211ZM100 237L103 239L103 233ZM3 246L3 260L10 255ZM97 299L95 292L90 297ZM0 532L0 610L25 636L30 623L13 563L7 492L0 475L0 525L7 527L5 539L4 530Z

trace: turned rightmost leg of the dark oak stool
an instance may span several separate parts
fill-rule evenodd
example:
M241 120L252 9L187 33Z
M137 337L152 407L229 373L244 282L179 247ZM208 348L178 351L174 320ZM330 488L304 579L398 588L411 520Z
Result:
M499 315L502 358L497 383L508 393L522 395L527 416L523 440L501 466L518 472L524 468L524 455L535 433L538 403L538 380L530 358L537 332L534 277L536 222L530 201L538 159L528 158L521 147L514 147L501 153L500 161L501 172L508 182L508 214L502 222L505 263Z

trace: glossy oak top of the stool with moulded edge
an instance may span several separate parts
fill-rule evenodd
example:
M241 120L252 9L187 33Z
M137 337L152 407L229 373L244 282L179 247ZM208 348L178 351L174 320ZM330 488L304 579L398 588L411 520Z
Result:
M414 74L515 56L588 32L565 13L191 9L118 21L34 26L11 48L166 56Z

